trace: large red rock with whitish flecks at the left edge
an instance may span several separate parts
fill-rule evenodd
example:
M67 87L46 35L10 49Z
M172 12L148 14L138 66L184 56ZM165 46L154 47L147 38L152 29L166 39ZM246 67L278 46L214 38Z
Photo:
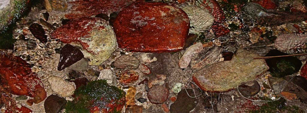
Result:
M44 85L25 60L13 55L0 55L0 74L1 82L10 87L12 94L34 97L34 103L45 100Z

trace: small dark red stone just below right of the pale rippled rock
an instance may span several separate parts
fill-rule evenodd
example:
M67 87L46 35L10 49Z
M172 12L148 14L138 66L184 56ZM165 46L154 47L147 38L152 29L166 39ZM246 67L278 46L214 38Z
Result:
M216 37L224 36L230 32L228 28L221 24L212 25L209 30L212 31Z

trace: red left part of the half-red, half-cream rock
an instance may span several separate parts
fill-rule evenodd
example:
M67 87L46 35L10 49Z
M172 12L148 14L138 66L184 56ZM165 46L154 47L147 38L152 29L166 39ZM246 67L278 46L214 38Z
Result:
M89 45L86 42L82 42L80 38L90 37L92 29L95 29L97 22L104 20L101 18L82 17L69 21L67 24L57 28L52 32L51 36L56 39L60 39L63 43L80 43L83 49L87 50ZM86 27L85 27L86 26ZM104 26L98 26L97 29L104 29ZM88 50L87 50L88 51ZM88 51L93 53L92 51Z

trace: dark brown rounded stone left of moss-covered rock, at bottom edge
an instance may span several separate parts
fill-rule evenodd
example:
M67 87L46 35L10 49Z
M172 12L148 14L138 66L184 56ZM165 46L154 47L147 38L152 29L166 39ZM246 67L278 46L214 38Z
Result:
M46 98L44 107L46 113L58 113L60 112L66 105L67 100L63 97L50 95Z

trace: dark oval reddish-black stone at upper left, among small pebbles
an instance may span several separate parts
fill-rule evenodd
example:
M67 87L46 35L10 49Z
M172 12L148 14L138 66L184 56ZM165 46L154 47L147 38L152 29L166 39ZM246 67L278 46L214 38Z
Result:
M45 35L45 30L43 26L37 23L33 23L29 27L31 33L35 38L37 38L41 43L47 42L47 35Z

